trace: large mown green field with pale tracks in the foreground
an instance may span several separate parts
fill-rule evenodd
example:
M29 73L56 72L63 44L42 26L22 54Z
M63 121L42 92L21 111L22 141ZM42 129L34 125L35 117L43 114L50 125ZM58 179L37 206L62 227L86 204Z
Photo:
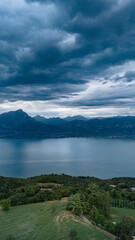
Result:
M77 240L109 240L108 236L66 211L63 201L12 207L0 210L0 240L69 240L72 229Z

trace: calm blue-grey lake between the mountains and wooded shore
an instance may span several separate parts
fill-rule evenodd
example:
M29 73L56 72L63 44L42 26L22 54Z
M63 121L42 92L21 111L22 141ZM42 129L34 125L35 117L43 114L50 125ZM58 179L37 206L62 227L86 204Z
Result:
M135 140L0 139L0 176L30 177L49 173L135 177Z

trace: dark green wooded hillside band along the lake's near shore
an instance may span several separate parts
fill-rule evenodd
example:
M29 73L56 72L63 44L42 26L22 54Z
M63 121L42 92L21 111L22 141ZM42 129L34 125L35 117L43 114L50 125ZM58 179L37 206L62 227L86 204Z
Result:
M135 201L135 191L131 189L135 187L135 178L123 177L102 180L95 177L73 177L65 174L45 174L26 179L0 176L0 200L17 194L16 197L17 199L19 197L19 201L21 199L24 202L29 200L28 203L38 202L36 199L31 199L31 196L36 195L41 188L45 188L43 190L48 189L48 191L52 188L53 192L50 194L54 193L54 191L57 194L51 197L57 199L59 197L68 197L78 191L85 192L89 184L96 184L101 191L109 191L113 198ZM121 191L122 189L123 191ZM30 193L28 193L29 191Z

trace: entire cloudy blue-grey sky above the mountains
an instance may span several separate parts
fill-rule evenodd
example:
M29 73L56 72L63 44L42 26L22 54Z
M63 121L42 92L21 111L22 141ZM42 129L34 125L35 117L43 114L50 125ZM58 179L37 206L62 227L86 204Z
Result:
M0 113L135 115L134 0L0 0Z

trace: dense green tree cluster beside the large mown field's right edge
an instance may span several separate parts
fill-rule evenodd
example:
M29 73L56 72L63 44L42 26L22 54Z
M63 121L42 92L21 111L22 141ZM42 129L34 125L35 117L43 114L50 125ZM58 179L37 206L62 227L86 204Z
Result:
M96 223L103 223L110 216L110 195L91 183L85 192L72 195L68 199L67 210L77 215L87 214Z

